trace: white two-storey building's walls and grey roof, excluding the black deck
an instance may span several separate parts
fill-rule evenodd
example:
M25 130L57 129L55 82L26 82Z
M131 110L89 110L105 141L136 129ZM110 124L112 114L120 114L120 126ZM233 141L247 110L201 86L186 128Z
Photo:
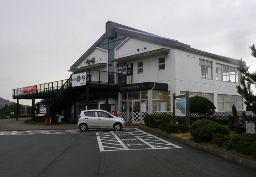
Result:
M237 59L108 21L106 33L69 71L88 74L93 69L127 75L132 72L131 76L108 76L109 82L123 83L128 79L132 82L119 86L116 97L109 98L108 104L115 105L111 111L121 111L127 121L143 122L145 114L173 112L172 95L187 90L190 96L212 101L216 115L231 114L233 104L237 111L244 111L243 98L236 92L241 77L237 66ZM98 100L96 105L102 108L100 104L104 102Z

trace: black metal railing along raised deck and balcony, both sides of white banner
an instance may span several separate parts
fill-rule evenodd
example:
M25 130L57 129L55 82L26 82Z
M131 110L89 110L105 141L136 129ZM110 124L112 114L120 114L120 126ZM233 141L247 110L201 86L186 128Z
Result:
M98 83L98 84L114 84L114 85L125 85L132 84L132 76L126 74L107 72L99 70L87 70L86 71L86 82L87 83ZM23 93L24 88L13 89L12 96L24 96L27 94L54 94L59 91L64 91L72 86L72 76L69 79L54 81L49 83L43 83L35 85L36 90L32 92Z

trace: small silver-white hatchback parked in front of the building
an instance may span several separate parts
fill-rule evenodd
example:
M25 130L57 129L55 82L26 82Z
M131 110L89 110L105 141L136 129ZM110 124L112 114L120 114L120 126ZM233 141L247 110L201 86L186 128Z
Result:
M113 128L115 131L120 131L125 126L124 119L116 117L105 110L91 109L81 111L78 117L77 126L80 131L88 129L106 129Z

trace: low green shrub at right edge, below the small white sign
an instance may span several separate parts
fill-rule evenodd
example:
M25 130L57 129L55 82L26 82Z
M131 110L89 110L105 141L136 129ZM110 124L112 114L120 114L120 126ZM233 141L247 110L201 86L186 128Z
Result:
M252 155L256 158L256 134L242 133L231 136L224 146L227 149L233 149L238 153Z

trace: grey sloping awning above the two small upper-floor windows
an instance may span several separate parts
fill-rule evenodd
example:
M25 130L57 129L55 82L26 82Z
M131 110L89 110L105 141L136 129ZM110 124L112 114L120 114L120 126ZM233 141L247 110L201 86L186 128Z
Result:
M118 59L114 59L112 61L120 63L120 62L125 62L125 61L130 60L130 59L135 59L135 58L139 58L139 57L146 57L146 56L149 56L149 55L155 55L155 54L167 53L167 52L170 52L169 48L160 48L160 49L151 50L151 51L147 51L147 52L143 52L143 53L137 53L135 55L129 55L129 56L126 56L126 57L121 57L121 58L118 58Z

